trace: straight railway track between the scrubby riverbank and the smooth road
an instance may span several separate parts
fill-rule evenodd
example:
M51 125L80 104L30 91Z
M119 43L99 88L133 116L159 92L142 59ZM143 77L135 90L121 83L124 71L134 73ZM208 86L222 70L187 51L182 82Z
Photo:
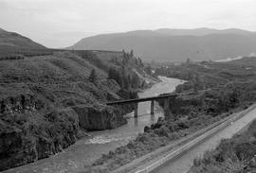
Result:
M174 160L176 162L176 159L178 157L190 151L190 149L192 149L193 147L199 146L201 143L204 143L204 141L210 139L210 137L214 136L214 134L221 132L222 130L225 130L229 125L235 123L239 119L242 119L245 115L247 115L248 112L255 111L255 109L256 104L250 106L249 108L247 108L247 110L244 110L243 112L231 114L229 115L229 117L212 124L210 127L206 129L199 130L192 134L191 136L188 136L185 139L181 139L180 141L174 142L169 146L158 148L154 152L149 153L141 158L138 158L130 164L121 166L114 172L162 172L161 167L165 167L167 163L172 163L172 161ZM256 114L254 117L256 117Z

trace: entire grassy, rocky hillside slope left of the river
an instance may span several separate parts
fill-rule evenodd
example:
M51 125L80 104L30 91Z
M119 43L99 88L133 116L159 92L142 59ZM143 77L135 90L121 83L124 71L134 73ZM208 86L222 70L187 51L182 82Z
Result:
M133 106L105 103L135 98L137 93L108 78L109 66L120 68L118 63L94 54L86 58L54 52L0 62L0 170L60 152L83 130L109 130L126 123L122 115Z

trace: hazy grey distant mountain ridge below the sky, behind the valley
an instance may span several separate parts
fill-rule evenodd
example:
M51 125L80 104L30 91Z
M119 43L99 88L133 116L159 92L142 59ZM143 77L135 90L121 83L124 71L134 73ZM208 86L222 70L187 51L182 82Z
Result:
M256 53L256 32L237 28L135 30L87 37L71 47L134 49L144 61L216 61Z

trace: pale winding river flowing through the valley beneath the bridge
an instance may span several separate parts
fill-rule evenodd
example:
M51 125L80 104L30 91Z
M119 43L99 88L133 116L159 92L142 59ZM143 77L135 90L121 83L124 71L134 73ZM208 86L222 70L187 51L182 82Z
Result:
M162 81L156 83L150 89L139 93L139 97L155 96L174 92L178 84L183 80L176 78L159 77ZM125 145L129 140L137 137L137 133L143 132L145 126L155 123L158 117L163 116L161 108L155 103L155 114L150 114L150 102L138 104L138 117L133 117L133 112L125 115L128 123L115 130L102 130L89 133L71 147L64 149L49 158L35 163L22 165L9 169L8 173L69 173L81 171L84 164L91 164L100 158L102 153L108 153L116 147Z

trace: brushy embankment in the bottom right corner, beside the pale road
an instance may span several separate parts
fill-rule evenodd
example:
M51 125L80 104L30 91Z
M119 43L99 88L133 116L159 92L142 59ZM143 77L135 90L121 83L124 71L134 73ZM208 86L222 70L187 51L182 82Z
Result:
M195 158L188 172L255 172L255 123L253 120L232 138L223 139L216 148Z

